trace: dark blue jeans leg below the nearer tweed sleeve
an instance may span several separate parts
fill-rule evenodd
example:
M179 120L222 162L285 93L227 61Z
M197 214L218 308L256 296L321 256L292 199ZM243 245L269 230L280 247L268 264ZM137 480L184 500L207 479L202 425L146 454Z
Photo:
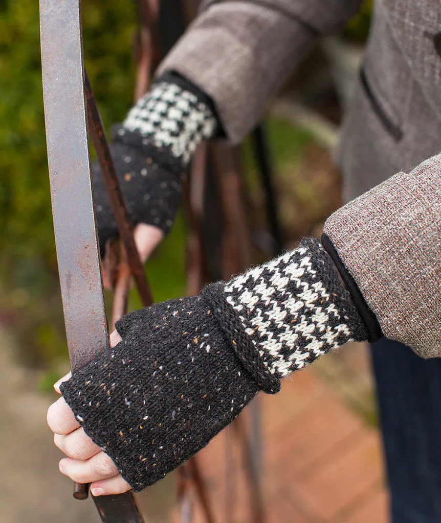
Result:
M441 358L372 345L393 523L441 523Z

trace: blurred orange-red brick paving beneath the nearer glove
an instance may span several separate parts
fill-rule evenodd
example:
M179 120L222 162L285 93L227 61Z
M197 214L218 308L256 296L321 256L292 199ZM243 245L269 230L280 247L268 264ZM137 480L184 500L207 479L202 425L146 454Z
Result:
M378 431L347 405L314 366L275 396L262 394L264 497L268 523L387 523ZM199 454L217 521L253 521L233 427ZM226 492L226 452L237 473ZM204 518L196 509L194 523Z

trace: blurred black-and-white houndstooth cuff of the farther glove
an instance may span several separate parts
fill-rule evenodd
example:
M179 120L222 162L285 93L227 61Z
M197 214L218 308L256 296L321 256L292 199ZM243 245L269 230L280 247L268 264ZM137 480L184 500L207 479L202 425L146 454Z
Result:
M139 132L158 148L168 148L186 165L197 145L212 137L217 121L195 94L179 85L159 82L138 100L123 127Z

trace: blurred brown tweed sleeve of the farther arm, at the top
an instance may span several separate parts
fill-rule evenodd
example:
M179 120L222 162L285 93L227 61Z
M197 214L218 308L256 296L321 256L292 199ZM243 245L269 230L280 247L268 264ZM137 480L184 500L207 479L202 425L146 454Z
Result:
M361 0L208 0L159 67L208 94L227 138L240 141L320 35Z

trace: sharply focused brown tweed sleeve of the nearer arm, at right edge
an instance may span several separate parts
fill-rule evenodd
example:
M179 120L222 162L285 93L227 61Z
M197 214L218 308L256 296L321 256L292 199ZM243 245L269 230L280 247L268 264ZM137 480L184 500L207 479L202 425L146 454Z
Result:
M332 214L325 234L385 336L441 356L441 154Z

